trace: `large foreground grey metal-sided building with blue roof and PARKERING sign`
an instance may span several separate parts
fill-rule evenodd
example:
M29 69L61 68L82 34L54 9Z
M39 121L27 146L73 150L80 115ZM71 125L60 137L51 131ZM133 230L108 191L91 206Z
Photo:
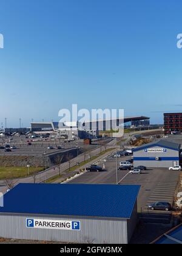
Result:
M0 237L129 243L139 190L138 185L20 183L4 195Z

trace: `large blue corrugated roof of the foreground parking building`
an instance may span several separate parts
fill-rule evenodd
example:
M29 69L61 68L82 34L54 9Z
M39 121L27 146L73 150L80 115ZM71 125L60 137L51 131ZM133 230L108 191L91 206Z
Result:
M130 218L139 185L19 183L0 213Z

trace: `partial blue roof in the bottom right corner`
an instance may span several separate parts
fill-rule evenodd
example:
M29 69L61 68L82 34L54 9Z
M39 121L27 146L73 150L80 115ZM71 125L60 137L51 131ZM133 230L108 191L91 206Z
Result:
M153 243L155 244L182 244L182 225L175 227L169 232L164 233Z

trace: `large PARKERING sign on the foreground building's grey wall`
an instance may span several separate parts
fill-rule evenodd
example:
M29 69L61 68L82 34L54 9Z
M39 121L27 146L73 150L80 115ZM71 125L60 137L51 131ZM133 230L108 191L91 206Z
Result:
M53 221L52 219L26 219L26 227L32 229L80 230L80 221Z

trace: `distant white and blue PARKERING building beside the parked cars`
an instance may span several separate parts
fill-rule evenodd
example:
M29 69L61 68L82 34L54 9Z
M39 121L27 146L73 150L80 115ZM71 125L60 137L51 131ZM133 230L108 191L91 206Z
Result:
M146 167L177 166L181 145L167 140L154 141L133 149L133 165Z

